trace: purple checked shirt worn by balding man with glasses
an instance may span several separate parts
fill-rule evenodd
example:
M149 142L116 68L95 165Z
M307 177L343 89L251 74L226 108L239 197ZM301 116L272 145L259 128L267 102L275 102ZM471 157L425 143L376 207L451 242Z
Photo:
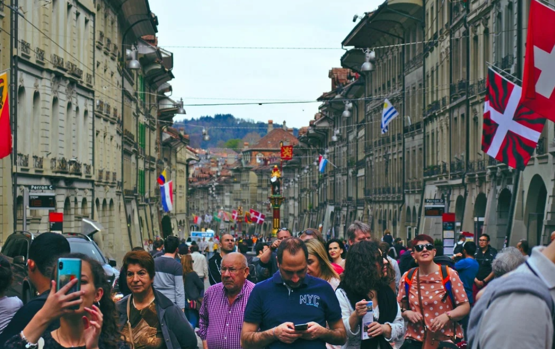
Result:
M245 280L243 289L229 305L224 284L212 285L206 290L200 307L199 330L196 334L208 343L208 349L241 348L241 329L246 302L254 284Z

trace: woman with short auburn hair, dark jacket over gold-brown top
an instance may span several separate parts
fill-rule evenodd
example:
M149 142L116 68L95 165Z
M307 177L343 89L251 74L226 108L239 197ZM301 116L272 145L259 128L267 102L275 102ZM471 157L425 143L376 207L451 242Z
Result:
M131 294L117 303L119 325L133 347L195 348L196 336L183 311L154 290L154 258L146 251L128 252L121 272Z

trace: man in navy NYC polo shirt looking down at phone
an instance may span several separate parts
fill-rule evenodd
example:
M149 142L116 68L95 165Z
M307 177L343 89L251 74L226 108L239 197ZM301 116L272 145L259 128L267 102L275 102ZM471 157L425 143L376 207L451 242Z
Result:
M325 349L326 343L346 342L339 301L326 281L306 275L308 256L301 239L290 237L281 242L279 271L256 284L250 294L241 347ZM295 325L305 323L306 330L295 331Z

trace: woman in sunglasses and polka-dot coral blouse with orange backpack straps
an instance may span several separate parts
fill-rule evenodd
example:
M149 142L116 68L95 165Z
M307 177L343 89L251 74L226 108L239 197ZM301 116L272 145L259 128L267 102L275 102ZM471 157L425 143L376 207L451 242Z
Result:
M436 255L433 239L418 235L412 242L412 257L418 267L407 271L399 284L397 301L402 316L408 321L405 343L402 349L436 349L441 341L457 341L462 338L458 324L470 312L468 297L457 272L446 268L452 288L451 295L443 284L447 280L442 268L433 261ZM413 275L408 280L407 275ZM408 292L405 289L407 284Z

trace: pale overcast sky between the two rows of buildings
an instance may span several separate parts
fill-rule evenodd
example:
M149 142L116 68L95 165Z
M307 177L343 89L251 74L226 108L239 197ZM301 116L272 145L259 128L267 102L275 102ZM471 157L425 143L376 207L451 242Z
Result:
M380 1L156 0L158 44L174 53L173 99L185 104L315 100L331 89L354 14ZM192 49L177 46L326 47L335 50ZM206 99L201 99L206 98ZM210 98L210 99L209 99ZM250 100L233 100L250 99ZM302 127L318 103L185 107L185 118L235 117ZM175 120L181 118L176 117Z

